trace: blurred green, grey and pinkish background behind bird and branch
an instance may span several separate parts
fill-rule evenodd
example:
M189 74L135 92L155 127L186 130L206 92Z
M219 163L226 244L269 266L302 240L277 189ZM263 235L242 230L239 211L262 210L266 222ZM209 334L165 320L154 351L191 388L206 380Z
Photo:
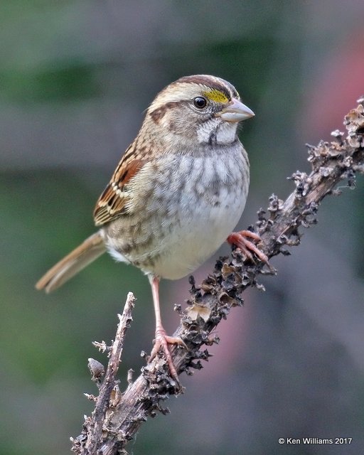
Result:
M232 82L256 117L241 139L250 198L308 171L304 144L330 140L364 93L363 1L24 1L0 3L0 452L65 454L96 393L91 341L114 336L134 291L120 378L154 332L147 279L102 257L55 294L34 284L94 231L92 210L144 109L182 75ZM218 328L214 358L171 414L149 419L134 454L361 454L364 446L364 179L328 198L319 225L276 258ZM227 252L223 247L222 252ZM204 277L213 259L196 272ZM168 331L188 282L164 282ZM352 437L350 446L279 446L279 437Z

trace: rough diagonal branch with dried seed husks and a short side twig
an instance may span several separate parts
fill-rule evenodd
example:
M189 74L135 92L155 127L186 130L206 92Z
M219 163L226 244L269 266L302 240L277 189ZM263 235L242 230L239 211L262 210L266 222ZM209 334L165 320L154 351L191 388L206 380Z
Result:
M364 98L358 102L363 103ZM309 228L317 222L321 200L330 194L340 194L341 190L335 188L342 181L346 181L349 188L355 188L355 173L364 173L363 105L351 110L344 124L347 130L345 138L344 133L336 130L331 133L335 138L333 141L307 146L311 173L296 171L290 177L296 188L289 197L282 201L272 195L267 211L258 211L258 220L250 230L259 234L262 239L259 248L267 257L279 253L289 255L287 247L300 243L299 228ZM264 289L257 277L276 273L273 267L258 259L254 264L246 259L235 248L230 258L218 259L215 269L200 286L196 287L193 277L190 277L191 299L184 311L181 306L176 306L181 323L173 334L183 339L188 350L171 346L178 375L183 371L192 374L191 369L202 368L200 361L208 360L209 353L206 348L201 348L218 343L218 338L211 333L221 319L226 319L233 306L242 305L242 292L251 286ZM134 297L132 299L134 301ZM130 321L131 316L128 317ZM183 391L169 376L166 361L160 356L141 368L141 375L134 382L129 380L127 390L121 393L115 380L123 339L118 336L120 331L119 327L114 342L119 348L112 347L112 353L118 354L110 356L100 395L93 397L97 403L95 411L92 417L85 419L82 434L72 439L76 454L125 453L127 441L134 437L141 423L149 416L154 417L156 412L166 414L168 409L162 407L161 402L169 395Z

